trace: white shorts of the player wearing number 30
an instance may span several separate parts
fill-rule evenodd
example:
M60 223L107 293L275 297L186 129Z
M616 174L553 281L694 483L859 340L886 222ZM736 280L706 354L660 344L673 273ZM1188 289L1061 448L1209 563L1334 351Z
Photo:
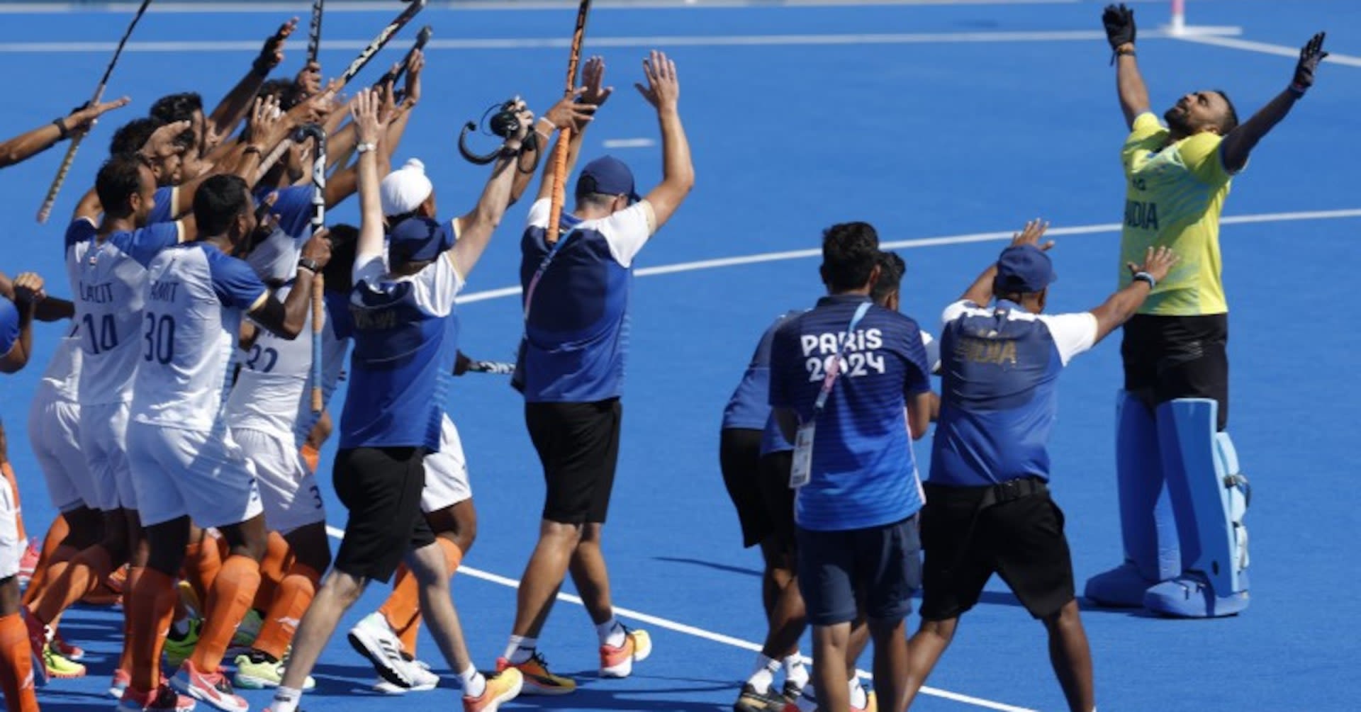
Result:
M260 515L255 467L226 429L184 430L133 422L128 451L135 463L137 513L150 527L189 515L200 527L240 524Z

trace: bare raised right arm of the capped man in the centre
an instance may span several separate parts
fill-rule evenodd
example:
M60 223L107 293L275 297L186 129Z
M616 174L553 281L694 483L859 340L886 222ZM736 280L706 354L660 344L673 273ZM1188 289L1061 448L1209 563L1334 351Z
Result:
M661 182L644 199L652 206L656 218L653 229L660 230L694 187L694 163L690 161L690 142L686 139L685 127L680 125L678 109L680 80L676 78L676 63L664 53L652 50L652 54L642 60L642 72L648 78L648 86L634 86L657 110L657 121L661 123Z

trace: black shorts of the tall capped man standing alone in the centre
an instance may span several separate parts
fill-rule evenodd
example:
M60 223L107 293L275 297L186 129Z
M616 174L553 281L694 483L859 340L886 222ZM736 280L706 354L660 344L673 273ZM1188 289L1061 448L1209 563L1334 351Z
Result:
M543 519L603 524L619 462L618 398L595 403L525 403L524 422L543 463Z

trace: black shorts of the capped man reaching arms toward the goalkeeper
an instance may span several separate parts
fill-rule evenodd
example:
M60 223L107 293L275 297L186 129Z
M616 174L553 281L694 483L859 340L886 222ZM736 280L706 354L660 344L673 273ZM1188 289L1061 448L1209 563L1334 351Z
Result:
M958 618L979 602L994 573L1036 618L1074 599L1063 512L1048 491L979 509L989 489L925 485L923 619Z

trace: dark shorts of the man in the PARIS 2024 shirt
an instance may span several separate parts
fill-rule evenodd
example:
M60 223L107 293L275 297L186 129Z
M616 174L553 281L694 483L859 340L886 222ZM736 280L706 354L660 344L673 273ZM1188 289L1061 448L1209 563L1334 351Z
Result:
M921 585L917 517L848 531L799 527L799 592L813 625L837 625L864 611L872 621L901 621Z

